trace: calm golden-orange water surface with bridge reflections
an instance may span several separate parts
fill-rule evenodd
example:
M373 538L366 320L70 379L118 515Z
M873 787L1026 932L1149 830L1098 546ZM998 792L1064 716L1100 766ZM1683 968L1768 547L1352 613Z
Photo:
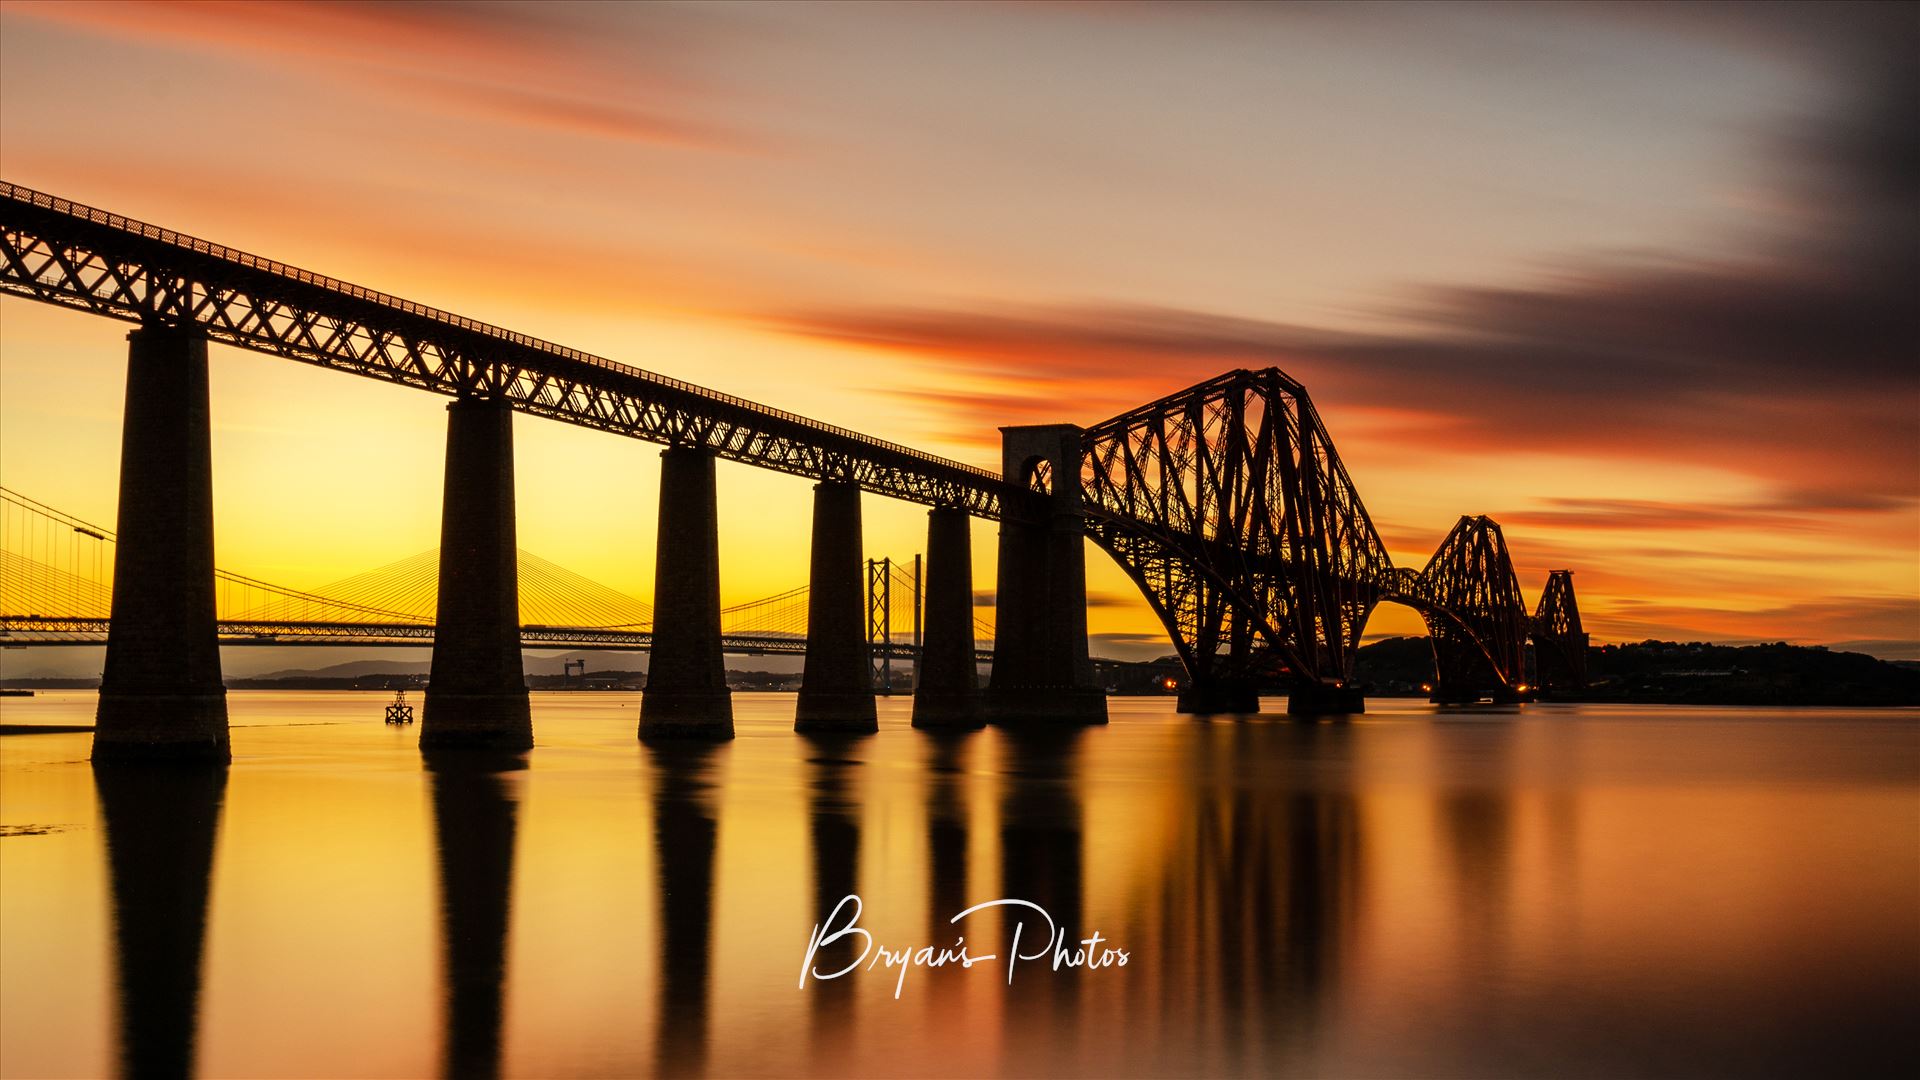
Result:
M225 773L0 738L0 1072L1920 1065L1912 711L1116 700L1108 728L933 738L899 698L879 736L806 740L791 696L741 694L735 742L660 753L634 696L540 694L524 761L426 769L386 700L230 694ZM88 723L92 696L0 709ZM1129 963L803 990L847 894L889 949L1004 957L1004 909L948 919L1018 897Z

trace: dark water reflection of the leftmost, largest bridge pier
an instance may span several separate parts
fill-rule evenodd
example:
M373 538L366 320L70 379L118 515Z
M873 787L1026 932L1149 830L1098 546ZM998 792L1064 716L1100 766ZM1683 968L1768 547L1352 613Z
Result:
M192 1076L227 767L98 765L113 884L123 1076Z

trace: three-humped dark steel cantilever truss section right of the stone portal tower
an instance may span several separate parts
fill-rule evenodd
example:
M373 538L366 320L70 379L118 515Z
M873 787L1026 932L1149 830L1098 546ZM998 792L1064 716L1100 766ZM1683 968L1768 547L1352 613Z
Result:
M1196 686L1342 684L1373 607L1421 611L1436 698L1526 694L1542 671L1578 684L1572 580L1528 617L1500 525L1461 517L1419 573L1394 567L1306 390L1231 371L1087 429L1087 534L1127 571Z

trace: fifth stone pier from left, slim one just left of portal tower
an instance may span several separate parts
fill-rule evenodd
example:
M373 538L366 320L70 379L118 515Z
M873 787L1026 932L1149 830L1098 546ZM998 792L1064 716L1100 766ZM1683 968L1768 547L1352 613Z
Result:
M914 726L970 730L981 724L973 659L973 542L960 507L927 511L927 582L920 659L914 663Z

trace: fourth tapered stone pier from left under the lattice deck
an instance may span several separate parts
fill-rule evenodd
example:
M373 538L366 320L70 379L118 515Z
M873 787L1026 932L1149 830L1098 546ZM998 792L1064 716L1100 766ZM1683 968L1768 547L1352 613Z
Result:
M866 642L866 555L860 488L814 484L814 538L806 592L806 663L793 730L876 732Z

